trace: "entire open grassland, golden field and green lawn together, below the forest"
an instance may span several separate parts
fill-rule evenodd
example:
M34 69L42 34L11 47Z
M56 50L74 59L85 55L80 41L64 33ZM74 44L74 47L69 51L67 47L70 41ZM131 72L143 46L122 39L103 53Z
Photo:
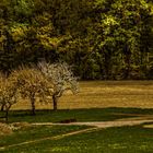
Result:
M80 93L67 92L59 101L59 110L51 103L31 105L22 101L9 113L9 122L28 122L12 133L0 136L2 153L152 153L153 126L125 126L70 134L90 129L87 126L32 126L33 122L114 121L116 119L153 116L152 81L89 81L80 82ZM2 113L0 113L2 116ZM25 123L26 125L26 123ZM63 137L68 133L68 137ZM57 139L58 138L58 139Z

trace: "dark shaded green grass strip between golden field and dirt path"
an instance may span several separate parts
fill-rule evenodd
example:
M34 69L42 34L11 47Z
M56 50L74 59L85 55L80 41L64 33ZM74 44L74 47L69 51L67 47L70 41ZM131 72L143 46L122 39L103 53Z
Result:
M0 121L3 120L4 114L0 111ZM10 110L9 122L60 122L62 120L74 119L75 121L108 121L138 115L153 115L153 109L142 108L90 108L90 109L59 109L54 111L51 109L36 110L33 116L31 110Z

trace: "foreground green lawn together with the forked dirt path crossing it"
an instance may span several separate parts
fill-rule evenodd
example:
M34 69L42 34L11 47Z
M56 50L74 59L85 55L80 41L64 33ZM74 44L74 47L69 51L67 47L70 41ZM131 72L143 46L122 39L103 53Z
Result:
M69 123L69 126L33 123L31 128L2 137L0 152L150 153L153 151L153 129L148 128L151 126L149 125L151 118L149 120L138 118L132 121L96 122L97 127L79 126L86 125L85 122ZM143 122L145 125L140 125ZM90 122L87 125L91 126ZM92 126L95 125L92 122Z

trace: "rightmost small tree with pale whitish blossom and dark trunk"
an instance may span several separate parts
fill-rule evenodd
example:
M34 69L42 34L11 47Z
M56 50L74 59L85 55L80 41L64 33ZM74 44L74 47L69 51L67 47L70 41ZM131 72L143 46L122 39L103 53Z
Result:
M66 91L71 91L73 94L78 93L79 87L76 78L73 75L70 66L66 62L40 62L38 63L38 67L46 79L48 79L52 84L52 89L50 91L54 110L57 110L58 98L61 97Z

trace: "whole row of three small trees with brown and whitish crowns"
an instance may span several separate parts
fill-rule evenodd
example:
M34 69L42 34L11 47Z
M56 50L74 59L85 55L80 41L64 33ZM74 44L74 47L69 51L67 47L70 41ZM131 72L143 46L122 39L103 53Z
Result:
M36 101L45 103L48 96L52 97L48 103L52 103L54 110L57 110L58 98L68 90L78 93L78 81L66 62L20 67L8 78L0 75L0 106L5 111L7 120L11 106L20 103L21 98L30 101L33 115Z

